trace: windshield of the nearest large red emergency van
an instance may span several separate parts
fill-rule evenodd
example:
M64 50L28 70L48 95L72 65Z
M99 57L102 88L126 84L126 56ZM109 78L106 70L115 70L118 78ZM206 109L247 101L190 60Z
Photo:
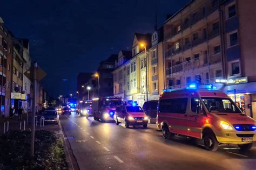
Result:
M210 112L241 114L240 109L230 98L202 97L202 100Z

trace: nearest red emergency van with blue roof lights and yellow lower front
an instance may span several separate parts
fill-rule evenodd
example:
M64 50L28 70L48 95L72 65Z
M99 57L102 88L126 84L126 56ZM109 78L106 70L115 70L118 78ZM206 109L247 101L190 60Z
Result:
M216 151L220 144L238 144L249 150L256 141L255 120L225 93L191 84L187 89L165 90L159 98L157 126L163 137L175 134L203 139L206 150Z

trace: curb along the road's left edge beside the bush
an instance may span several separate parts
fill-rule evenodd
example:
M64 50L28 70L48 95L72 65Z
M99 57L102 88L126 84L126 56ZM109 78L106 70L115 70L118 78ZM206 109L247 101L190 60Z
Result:
M77 159L76 159L75 155L73 154L73 150L71 148L69 140L68 140L68 142L66 142L66 140L65 140L66 133L62 130L61 121L59 121L59 128L60 128L60 131L62 132L62 139L63 139L64 148L65 148L66 158L68 159L69 169L72 169L72 170L80 169Z

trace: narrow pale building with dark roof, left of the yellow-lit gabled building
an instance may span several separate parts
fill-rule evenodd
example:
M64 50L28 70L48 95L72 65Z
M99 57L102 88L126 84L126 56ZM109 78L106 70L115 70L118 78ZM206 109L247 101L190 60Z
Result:
M120 51L118 60L116 61L115 70L113 70L114 89L113 93L116 97L126 98L126 67L124 63L131 59L131 51Z

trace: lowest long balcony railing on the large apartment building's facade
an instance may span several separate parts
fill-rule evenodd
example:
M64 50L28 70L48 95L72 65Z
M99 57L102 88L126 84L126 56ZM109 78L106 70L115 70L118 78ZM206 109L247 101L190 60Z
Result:
M212 55L209 58L210 58L210 62L208 62L208 56L203 55L203 56L199 56L199 58L194 58L192 60L182 62L178 65L174 65L174 66L166 69L166 75L169 76L171 74L175 74L175 73L179 73L179 72L183 72L183 71L188 72L193 69L198 69L201 67L206 67L208 65L212 65L214 63L221 62L220 54Z

